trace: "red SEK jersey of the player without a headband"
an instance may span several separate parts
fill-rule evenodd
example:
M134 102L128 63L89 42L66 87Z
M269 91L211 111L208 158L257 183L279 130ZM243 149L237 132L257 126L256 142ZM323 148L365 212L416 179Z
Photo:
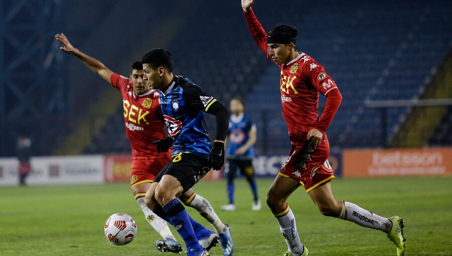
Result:
M170 158L170 153L157 153L153 142L165 138L165 126L160 108L160 93L150 90L136 96L129 78L112 74L111 85L123 95L126 134L132 146L132 156L142 158Z

